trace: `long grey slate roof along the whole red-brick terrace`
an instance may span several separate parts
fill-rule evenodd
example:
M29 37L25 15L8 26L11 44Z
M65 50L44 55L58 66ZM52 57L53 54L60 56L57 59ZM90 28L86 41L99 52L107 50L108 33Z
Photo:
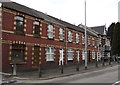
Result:
M52 17L50 15L44 14L44 13L39 12L37 10L34 10L32 8L29 8L29 7L26 7L24 5L18 4L16 2L2 2L2 7L8 8L8 9L11 9L11 10L15 10L15 11L21 12L23 14L27 14L27 15L30 15L30 16L33 16L33 17L37 17L37 18L46 20L48 22L58 24L58 25L61 25L61 26L64 26L64 27L67 27L67 28L70 28L70 29L73 29L73 30L80 31L80 32L84 33L84 28L81 28L79 26L75 26L73 24L62 21L62 20L57 19L55 17ZM96 36L89 31L87 31L87 33L92 35L92 36Z

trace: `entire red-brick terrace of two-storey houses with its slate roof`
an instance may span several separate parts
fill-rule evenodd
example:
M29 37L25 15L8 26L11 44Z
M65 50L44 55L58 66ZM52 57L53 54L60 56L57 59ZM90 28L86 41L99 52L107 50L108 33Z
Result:
M10 63L23 63L27 70L84 62L84 28L17 4L4 2L0 8L2 22L2 70ZM88 62L97 58L97 36L87 31ZM1 57L1 56L0 56Z

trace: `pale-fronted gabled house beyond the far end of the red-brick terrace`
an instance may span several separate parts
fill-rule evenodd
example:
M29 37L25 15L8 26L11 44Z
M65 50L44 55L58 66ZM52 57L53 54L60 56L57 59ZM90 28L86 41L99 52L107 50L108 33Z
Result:
M96 31L98 34L98 58L104 58L108 60L110 58L111 46L110 46L110 38L106 35L106 26L95 26L90 27L92 30Z

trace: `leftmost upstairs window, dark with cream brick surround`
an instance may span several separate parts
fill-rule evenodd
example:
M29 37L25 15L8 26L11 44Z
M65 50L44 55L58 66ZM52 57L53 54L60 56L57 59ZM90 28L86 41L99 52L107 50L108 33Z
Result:
M19 33L24 32L24 18L21 16L16 16L16 31Z

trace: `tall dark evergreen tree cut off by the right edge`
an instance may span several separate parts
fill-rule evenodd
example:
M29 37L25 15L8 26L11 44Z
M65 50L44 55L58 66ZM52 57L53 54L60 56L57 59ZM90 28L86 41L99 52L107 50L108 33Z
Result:
M120 56L120 23L116 23L112 37L112 55Z

